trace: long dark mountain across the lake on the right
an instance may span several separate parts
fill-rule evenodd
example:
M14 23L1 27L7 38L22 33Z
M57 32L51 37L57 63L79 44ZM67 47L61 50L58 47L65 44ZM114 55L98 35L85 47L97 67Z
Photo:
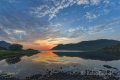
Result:
M109 47L115 44L116 40L91 40L91 41L82 41L76 44L59 44L56 47L53 47L52 50L100 50L104 47Z

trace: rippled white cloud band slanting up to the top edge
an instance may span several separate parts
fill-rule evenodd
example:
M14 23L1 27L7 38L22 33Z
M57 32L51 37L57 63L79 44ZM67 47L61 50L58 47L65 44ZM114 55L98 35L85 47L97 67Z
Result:
M50 2L44 1L44 5L39 7L33 8L31 14L35 14L38 17L49 16L49 20L56 17L56 14L59 13L61 9L67 8L74 4L81 5L81 4L92 4L98 5L100 0L53 0Z

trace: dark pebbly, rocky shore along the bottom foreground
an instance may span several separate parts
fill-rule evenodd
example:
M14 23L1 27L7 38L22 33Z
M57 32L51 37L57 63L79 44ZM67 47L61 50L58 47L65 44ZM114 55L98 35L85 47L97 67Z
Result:
M103 70L99 70L103 71ZM33 76L28 76L25 79L15 78L12 75L0 75L0 80L120 80L120 72L116 71L111 73L110 70L107 71L107 74L97 74L91 75L93 71L85 70L84 72L73 72L73 71L59 71L47 70L46 74L36 74ZM104 72L104 71L103 71Z

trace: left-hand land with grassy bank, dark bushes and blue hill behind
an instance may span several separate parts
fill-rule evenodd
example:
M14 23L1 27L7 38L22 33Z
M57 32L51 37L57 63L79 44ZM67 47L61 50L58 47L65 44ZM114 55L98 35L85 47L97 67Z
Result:
M5 41L0 41L0 57L14 56L14 55L31 55L39 53L38 50L34 49L22 49L21 44L10 44Z

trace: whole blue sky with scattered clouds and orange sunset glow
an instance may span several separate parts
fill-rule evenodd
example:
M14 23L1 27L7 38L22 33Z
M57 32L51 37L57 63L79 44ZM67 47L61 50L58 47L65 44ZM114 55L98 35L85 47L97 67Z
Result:
M0 41L24 48L120 40L120 0L0 0Z

